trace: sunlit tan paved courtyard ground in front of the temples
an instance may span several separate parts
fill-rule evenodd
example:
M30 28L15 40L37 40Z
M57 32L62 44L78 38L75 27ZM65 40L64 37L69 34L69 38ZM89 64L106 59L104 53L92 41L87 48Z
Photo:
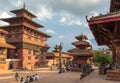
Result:
M120 81L110 81L105 79L105 75L98 75L98 70L95 70L90 75L80 80L80 73L65 72L58 74L57 71L46 72L19 72L20 77L26 78L27 75L39 74L40 79L32 83L120 83ZM20 83L14 78L14 73L0 74L0 83Z

